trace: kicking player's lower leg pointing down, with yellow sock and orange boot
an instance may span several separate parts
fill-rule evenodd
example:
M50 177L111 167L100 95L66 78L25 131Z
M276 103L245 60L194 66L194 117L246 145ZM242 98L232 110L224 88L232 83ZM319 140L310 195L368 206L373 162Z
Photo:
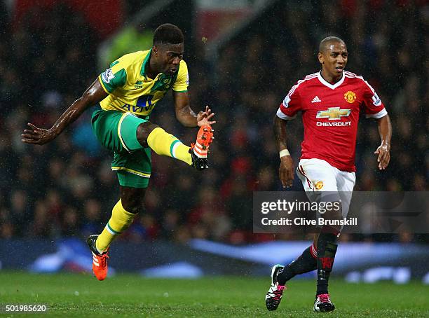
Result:
M90 235L88 246L93 254L93 272L98 280L107 277L109 246L114 239L127 230L143 207L146 188L120 186L121 199L111 212L111 218L100 235Z

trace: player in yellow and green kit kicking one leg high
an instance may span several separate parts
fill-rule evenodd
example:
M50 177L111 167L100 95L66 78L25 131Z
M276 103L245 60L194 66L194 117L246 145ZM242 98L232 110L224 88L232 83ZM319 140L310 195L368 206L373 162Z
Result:
M114 151L111 169L118 174L121 193L102 233L88 237L93 272L99 280L107 276L109 245L130 226L142 207L151 176L151 149L197 170L207 168L214 113L206 106L196 114L189 106L189 76L183 51L182 31L175 25L159 26L150 50L130 53L111 63L50 129L29 123L29 129L22 133L22 141L27 144L46 144L88 107L99 104L92 117L93 131L103 146ZM177 120L186 127L200 127L191 147L149 121L156 103L170 89Z

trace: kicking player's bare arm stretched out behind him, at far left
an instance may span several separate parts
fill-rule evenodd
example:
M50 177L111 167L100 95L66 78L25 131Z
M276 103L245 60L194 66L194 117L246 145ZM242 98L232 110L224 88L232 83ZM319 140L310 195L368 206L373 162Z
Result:
M36 127L32 123L28 123L30 129L24 130L21 134L22 142L26 144L39 144L43 145L55 139L61 132L71 123L74 122L81 113L88 109L88 107L97 104L107 97L107 92L104 91L100 81L96 79L94 83L83 93L82 97L74 101L69 108L62 113L60 118L55 124L46 130Z

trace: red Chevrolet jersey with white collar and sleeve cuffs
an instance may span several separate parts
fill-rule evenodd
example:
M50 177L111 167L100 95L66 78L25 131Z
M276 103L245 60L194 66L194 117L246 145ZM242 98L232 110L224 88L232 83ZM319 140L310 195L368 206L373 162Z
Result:
M290 120L302 111L301 159L318 158L339 170L354 172L361 109L367 118L387 115L374 88L362 76L343 71L343 78L330 84L318 72L292 87L280 104L277 116Z

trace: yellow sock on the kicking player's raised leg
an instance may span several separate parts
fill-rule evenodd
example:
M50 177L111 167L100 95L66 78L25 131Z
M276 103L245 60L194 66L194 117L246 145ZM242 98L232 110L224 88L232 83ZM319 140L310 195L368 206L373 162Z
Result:
M182 142L172 134L165 132L161 127L156 127L152 130L147 137L147 144L158 155L168 155L168 157L176 158L188 165L192 165L189 147L182 144Z

